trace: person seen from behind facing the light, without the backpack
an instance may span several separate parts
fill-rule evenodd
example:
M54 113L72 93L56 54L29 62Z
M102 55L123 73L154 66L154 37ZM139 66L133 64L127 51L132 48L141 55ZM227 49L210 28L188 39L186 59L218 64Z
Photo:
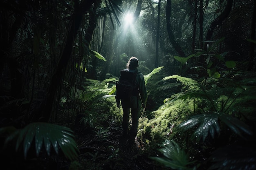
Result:
M126 69L124 70L129 72L135 72L135 71L138 71L137 69L138 66L139 66L138 59L136 57L131 57L126 64ZM120 79L122 79L121 75L119 77L119 80ZM120 100L121 100L121 106L123 109L123 121L122 121L123 139L128 139L129 145L132 145L135 143L135 137L137 135L137 130L139 126L141 104L143 109L146 108L147 91L146 91L145 80L141 72L137 73L135 77L134 85L139 90L139 96L131 96L130 100L117 99L116 97L117 107L120 108ZM131 112L131 118L132 118L132 126L130 128L130 134L129 134L128 126L129 126L130 112Z

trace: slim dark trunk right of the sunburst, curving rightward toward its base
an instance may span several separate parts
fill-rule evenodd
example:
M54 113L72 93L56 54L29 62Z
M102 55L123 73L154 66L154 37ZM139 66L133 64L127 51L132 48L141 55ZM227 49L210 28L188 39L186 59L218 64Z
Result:
M184 51L182 50L180 44L175 40L172 25L171 25L171 0L167 0L166 4L166 24L167 24L167 32L169 35L170 42L173 44L174 49L180 55L180 57L186 57Z

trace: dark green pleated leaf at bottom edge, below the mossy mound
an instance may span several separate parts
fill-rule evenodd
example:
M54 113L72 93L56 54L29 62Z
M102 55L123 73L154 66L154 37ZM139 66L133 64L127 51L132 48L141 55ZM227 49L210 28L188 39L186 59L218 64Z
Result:
M188 165L194 163L189 161L186 152L173 140L166 139L161 145L162 148L158 149L165 158L151 157L151 159L164 164L166 167L177 170L190 170Z

